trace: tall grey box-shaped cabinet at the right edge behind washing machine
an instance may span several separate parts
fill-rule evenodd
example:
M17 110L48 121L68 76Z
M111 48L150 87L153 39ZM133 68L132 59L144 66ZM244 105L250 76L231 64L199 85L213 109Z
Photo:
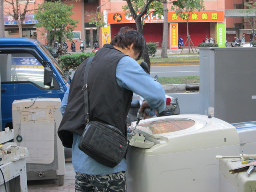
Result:
M256 47L200 48L200 114L228 123L255 120Z

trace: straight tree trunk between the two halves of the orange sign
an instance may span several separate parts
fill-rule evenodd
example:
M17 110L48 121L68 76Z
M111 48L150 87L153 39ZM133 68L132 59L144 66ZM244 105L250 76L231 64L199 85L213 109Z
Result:
M164 8L164 31L163 31L163 38L162 38L162 52L161 52L161 58L168 58L167 55L167 46L168 46L168 9L166 0L163 2L163 8Z

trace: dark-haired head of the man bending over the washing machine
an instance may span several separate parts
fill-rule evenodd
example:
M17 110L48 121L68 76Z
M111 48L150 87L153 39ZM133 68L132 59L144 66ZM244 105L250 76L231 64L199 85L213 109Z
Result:
M140 32L129 27L122 27L120 31L114 35L110 44L117 48L121 48L122 50L132 51L134 59L137 60L142 55L146 46L144 36Z

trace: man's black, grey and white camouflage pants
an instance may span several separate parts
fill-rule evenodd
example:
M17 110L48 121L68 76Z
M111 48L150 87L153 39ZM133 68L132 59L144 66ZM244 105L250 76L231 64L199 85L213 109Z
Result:
M76 192L126 192L125 172L87 175L76 172Z

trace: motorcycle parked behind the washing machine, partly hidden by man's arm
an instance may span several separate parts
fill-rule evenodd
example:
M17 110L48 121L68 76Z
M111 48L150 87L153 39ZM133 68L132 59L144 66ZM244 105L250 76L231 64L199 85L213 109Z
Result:
M148 70L148 64L146 64L146 62L142 62L140 64L140 66L144 69L144 71L146 73L149 74L149 70ZM158 76L156 75L154 77L154 79L156 81ZM178 104L178 98L173 98L171 96L165 95L166 97L166 108L163 112L161 112L160 114L156 114L156 116L160 117L160 116L168 116L168 115L177 115L180 114L180 107ZM126 118L126 123L127 126L130 126L132 122L137 121L137 112L140 108L140 105L142 104L142 102L144 101L144 98L142 98L141 96L136 95L135 93L132 96L132 103L131 103L131 107L130 110L128 112L128 116Z

